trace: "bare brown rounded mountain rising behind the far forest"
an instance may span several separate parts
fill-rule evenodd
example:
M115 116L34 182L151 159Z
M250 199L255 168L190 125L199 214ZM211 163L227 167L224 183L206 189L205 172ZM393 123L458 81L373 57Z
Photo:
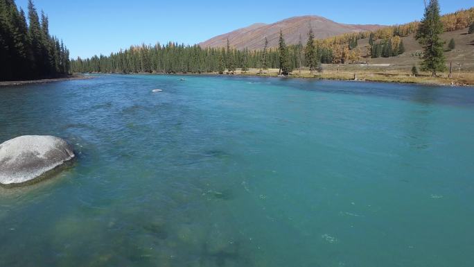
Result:
M278 46L280 30L283 31L287 44L297 44L300 35L302 42L306 42L310 25L317 39L324 39L342 33L372 31L383 27L381 25L340 24L317 16L291 17L274 24L252 24L246 28L213 37L200 43L200 46L224 47L227 45L227 38L229 38L231 46L236 49L261 49L265 43L265 37L267 37L269 46L274 47Z

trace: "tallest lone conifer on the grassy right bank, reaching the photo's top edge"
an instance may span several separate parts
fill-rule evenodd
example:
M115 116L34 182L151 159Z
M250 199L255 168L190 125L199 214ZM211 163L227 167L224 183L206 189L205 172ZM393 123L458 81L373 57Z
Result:
M439 37L441 33L443 33L443 24L439 15L439 3L438 0L430 0L415 37L423 46L424 51L421 69L431 71L433 77L436 76L437 71L446 69L444 42Z

